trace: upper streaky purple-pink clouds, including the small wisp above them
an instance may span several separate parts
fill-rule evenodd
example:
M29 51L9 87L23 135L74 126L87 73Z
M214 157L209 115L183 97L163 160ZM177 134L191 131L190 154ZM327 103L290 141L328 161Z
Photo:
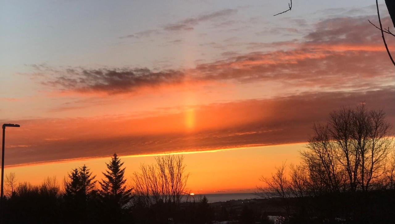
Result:
M232 9L218 11L183 20L178 25L191 26L234 12ZM46 79L42 81L44 85L79 93L120 94L135 92L142 87L197 82L271 81L289 89L315 87L332 90L355 90L393 83L393 66L387 58L380 32L370 26L367 19L374 19L374 16L325 19L299 40L245 43L249 48L271 50L248 54L225 52L223 60L189 69L154 72L148 68L69 68L59 71L47 65L38 66L38 69L41 80ZM391 22L389 17L383 21L385 24ZM179 40L174 42L179 43ZM228 45L212 42L204 46L226 49ZM43 72L52 75L43 76Z

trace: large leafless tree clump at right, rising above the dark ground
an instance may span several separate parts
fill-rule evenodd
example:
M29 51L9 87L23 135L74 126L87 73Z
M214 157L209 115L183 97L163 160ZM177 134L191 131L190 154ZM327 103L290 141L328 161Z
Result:
M300 152L301 164L290 165L286 173L283 163L271 178L262 177L267 186L258 187L261 196L286 200L394 187L395 154L388 162L393 137L383 110L368 111L364 103L342 107L313 130L307 149Z

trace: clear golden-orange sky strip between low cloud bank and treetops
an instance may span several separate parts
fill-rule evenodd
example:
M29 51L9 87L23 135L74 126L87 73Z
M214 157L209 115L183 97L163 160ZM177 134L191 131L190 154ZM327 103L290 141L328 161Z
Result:
M269 176L282 161L287 164L298 163L298 151L303 150L304 146L304 143L299 143L182 154L187 171L190 172L187 187L193 193L254 192L256 186L261 185L258 180L260 176ZM154 163L154 156L121 158L126 167L125 177L128 178L128 183L132 182L132 173L138 171L141 163ZM71 168L86 164L97 175L97 180L100 180L103 177L101 172L105 170L104 163L108 160L109 157L6 167L4 172L15 172L17 181L40 184L45 176L56 176L59 183L62 183Z

